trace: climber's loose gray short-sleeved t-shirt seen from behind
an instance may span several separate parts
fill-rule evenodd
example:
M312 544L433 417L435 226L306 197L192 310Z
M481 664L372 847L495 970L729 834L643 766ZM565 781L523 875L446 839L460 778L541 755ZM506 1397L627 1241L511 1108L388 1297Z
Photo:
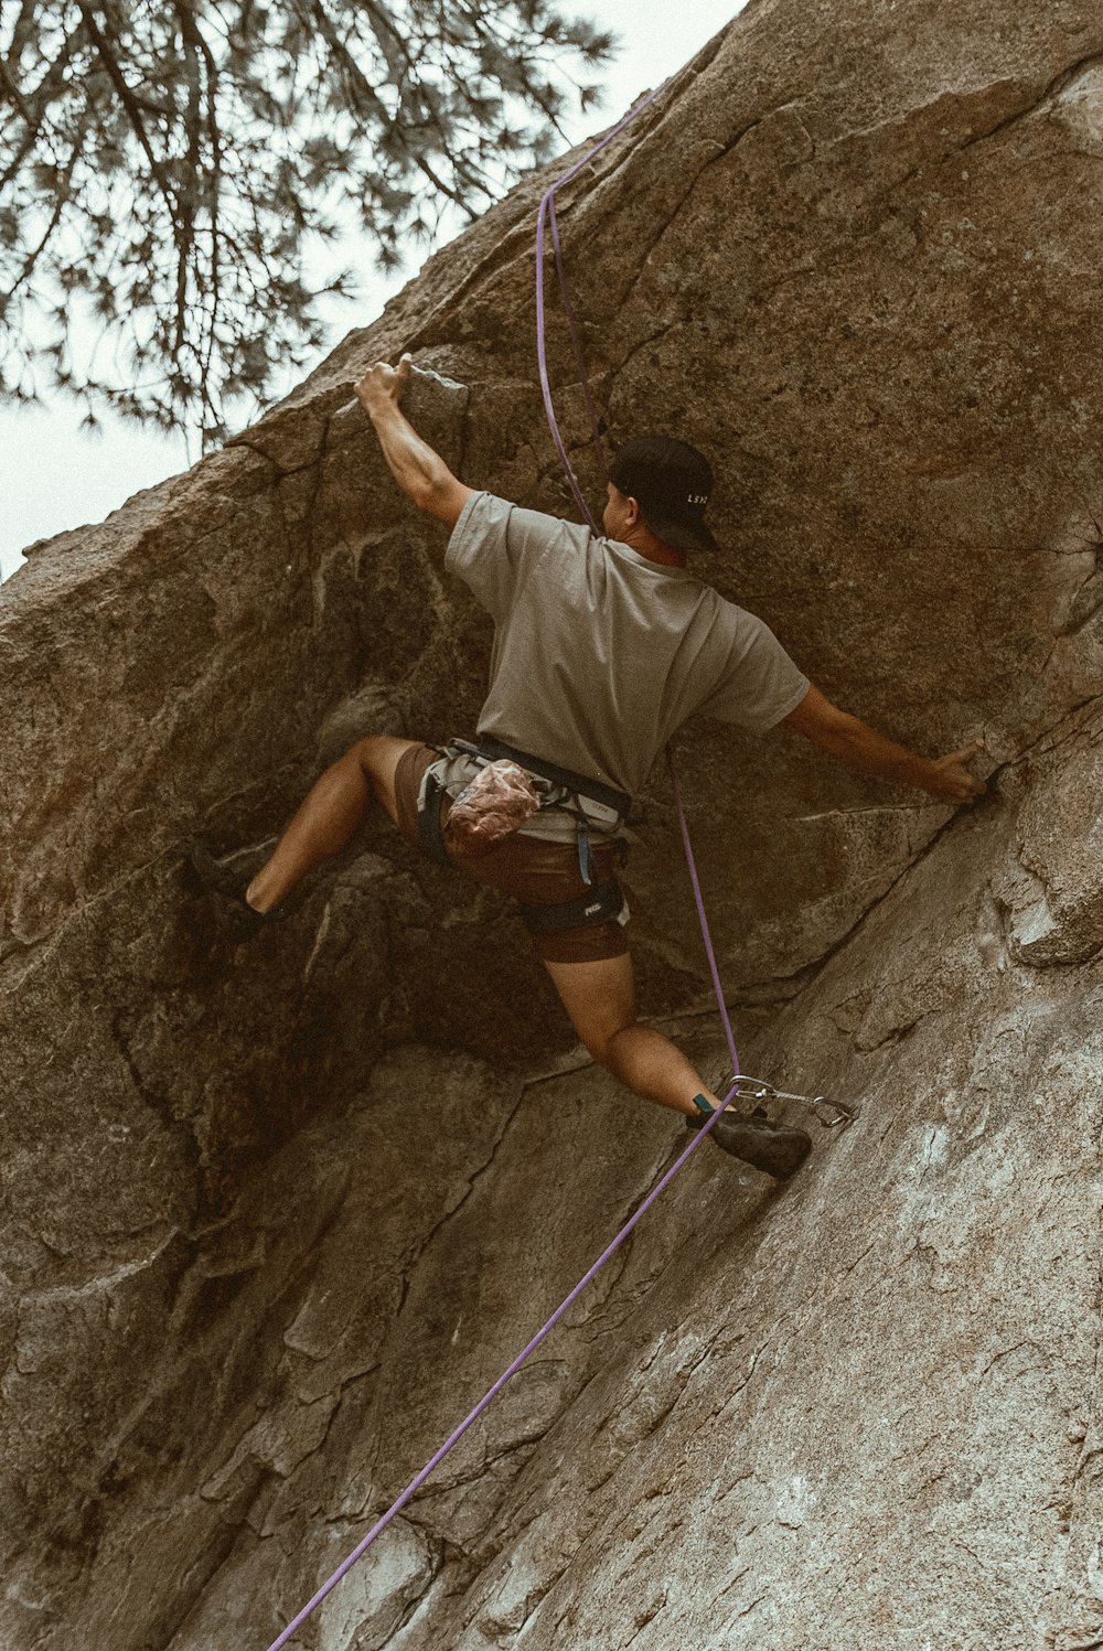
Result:
M765 731L807 693L761 619L588 527L474 494L444 566L494 619L479 733L629 796L689 717Z

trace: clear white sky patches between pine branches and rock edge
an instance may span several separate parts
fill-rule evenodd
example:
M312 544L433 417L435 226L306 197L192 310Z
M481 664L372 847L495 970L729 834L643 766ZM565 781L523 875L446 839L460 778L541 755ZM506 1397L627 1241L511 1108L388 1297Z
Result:
M641 92L687 63L746 0L575 0L568 12L591 17L623 36L606 74L608 101L576 122L580 142L623 114ZM322 358L353 327L365 327L413 271L385 282L365 277L355 304L342 305ZM305 378L309 368L299 376ZM183 471L198 454L172 439L104 414L102 434L81 431L74 403L15 409L0 404L0 578L21 563L25 545L86 522L102 522L142 487Z

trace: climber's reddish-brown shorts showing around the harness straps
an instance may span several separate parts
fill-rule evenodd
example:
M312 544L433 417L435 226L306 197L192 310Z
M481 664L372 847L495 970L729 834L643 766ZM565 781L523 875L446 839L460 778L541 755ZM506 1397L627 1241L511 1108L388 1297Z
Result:
M421 849L418 835L418 792L421 778L441 753L431 745L413 745L398 758L395 769L395 802L398 829L403 837ZM447 804L444 804L447 807ZM598 882L614 877L619 865L613 844L594 844ZM451 852L449 852L451 857ZM452 859L452 865L476 883L489 883L512 895L527 906L556 906L565 900L578 900L586 893L578 867L578 849L573 842L545 842L540 837L514 834L474 860ZM532 934L538 958L550 963L593 963L599 958L623 958L627 951L624 925L593 923L589 928L560 930L555 934Z

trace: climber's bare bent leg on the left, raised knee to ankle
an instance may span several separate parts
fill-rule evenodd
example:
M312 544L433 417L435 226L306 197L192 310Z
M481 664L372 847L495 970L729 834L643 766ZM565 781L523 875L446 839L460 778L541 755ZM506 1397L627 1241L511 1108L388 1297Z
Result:
M244 898L254 911L279 906L307 872L338 854L358 829L373 796L391 821L398 819L395 769L411 745L416 741L396 740L386 733L370 735L325 769L279 839L272 857L246 888Z

